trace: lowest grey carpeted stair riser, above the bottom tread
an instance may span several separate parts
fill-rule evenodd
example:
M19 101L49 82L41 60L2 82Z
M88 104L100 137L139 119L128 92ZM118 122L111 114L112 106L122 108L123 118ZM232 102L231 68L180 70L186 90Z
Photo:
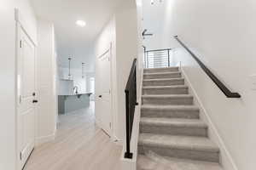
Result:
M186 150L177 148L155 147L143 144L138 146L139 154L145 154L147 150L151 150L160 156L170 156L181 159L190 159L195 161L212 161L219 162L218 152L201 151L201 150Z

